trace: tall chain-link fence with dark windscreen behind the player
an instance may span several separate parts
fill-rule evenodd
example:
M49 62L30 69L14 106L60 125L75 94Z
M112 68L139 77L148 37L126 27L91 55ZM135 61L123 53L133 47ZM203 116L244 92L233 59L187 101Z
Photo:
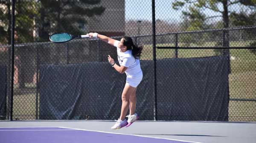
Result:
M117 119L125 75L107 59L116 49L99 39L49 42L93 31L144 46L140 120L256 121L253 0L13 2L0 1L1 120Z

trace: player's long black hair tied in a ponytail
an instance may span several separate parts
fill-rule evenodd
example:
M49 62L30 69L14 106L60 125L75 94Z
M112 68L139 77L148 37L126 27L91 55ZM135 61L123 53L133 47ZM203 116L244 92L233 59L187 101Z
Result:
M131 37L128 36L124 36L122 37L124 40L123 45L127 47L127 50L131 50L132 51L132 55L136 58L139 59L141 52L143 50L143 46L136 46L134 45Z

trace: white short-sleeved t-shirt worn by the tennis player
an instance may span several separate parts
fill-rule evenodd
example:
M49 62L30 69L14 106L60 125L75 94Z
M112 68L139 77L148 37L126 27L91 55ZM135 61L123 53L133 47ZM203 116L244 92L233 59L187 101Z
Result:
M136 77L142 70L140 69L140 60L134 58L131 50L122 52L118 47L120 41L116 40L114 46L117 48L118 61L121 66L127 67L125 74L130 77Z

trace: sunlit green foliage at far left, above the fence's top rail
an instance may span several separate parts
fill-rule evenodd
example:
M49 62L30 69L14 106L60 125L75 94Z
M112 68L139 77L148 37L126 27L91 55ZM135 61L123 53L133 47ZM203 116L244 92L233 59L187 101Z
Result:
M0 43L11 44L11 0L0 1ZM35 1L17 1L15 5L15 33L16 43L33 41L33 17L36 14L34 9Z

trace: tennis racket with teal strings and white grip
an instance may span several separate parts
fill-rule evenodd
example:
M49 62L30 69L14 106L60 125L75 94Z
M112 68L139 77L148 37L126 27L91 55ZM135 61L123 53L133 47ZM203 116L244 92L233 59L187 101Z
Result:
M89 35L71 35L68 33L55 33L49 36L49 40L54 43L64 43L76 38L88 38Z

